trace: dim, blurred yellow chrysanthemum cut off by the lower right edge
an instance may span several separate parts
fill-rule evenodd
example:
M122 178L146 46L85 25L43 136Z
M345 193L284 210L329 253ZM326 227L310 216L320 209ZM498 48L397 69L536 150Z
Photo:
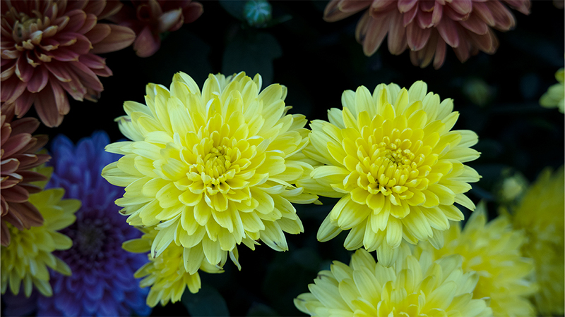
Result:
M534 260L534 281L540 287L534 304L542 316L565 313L564 183L563 166L555 173L543 170L511 214L514 227L528 237L522 253Z

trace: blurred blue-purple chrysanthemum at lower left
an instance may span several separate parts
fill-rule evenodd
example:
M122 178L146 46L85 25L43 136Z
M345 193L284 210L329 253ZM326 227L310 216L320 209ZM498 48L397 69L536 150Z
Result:
M59 251L73 274L52 276L53 297L40 297L38 316L146 316L147 289L139 288L133 273L146 261L145 254L121 249L124 241L141 237L141 232L126 223L114 200L124 189L106 182L102 168L116 161L104 151L109 144L105 132L95 132L75 146L59 135L52 143L54 167L47 187L63 187L65 198L82 201L76 222L62 230L73 240L73 247Z

